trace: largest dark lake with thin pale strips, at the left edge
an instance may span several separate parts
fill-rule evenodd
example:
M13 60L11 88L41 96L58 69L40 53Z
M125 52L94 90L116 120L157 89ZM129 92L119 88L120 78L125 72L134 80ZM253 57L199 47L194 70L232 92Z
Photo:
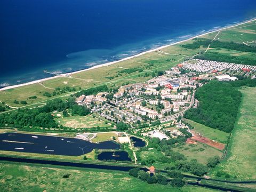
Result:
M79 156L93 149L120 149L113 141L92 143L82 139L23 133L0 134L0 150L26 153Z

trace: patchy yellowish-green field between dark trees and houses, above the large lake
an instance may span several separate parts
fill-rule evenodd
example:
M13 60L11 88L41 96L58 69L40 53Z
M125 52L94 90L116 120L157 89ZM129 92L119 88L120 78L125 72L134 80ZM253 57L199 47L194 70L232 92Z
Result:
M98 118L93 118L91 115L84 117L81 116L69 116L56 118L55 121L60 121L60 124L72 128L91 128L91 127L110 127L110 124L106 124L104 121Z

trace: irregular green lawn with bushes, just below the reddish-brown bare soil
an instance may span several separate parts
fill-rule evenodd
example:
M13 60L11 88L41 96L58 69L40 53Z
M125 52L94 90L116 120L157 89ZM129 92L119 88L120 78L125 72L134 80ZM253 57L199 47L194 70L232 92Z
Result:
M214 149L210 146L204 145L203 143L188 144L186 143L183 146L173 148L174 151L185 155L188 160L197 159L199 163L207 163L207 159L215 155L222 157L223 153L217 149Z

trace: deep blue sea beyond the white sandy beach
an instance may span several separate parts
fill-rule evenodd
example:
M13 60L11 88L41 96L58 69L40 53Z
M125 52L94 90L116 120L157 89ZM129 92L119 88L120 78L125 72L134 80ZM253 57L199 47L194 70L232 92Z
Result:
M0 86L71 72L256 17L255 0L1 0Z

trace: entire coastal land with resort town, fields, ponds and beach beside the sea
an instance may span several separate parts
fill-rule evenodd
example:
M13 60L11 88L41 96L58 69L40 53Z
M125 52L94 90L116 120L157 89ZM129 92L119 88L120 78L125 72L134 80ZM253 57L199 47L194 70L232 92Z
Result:
M0 190L255 191L255 42L254 19L2 87Z

